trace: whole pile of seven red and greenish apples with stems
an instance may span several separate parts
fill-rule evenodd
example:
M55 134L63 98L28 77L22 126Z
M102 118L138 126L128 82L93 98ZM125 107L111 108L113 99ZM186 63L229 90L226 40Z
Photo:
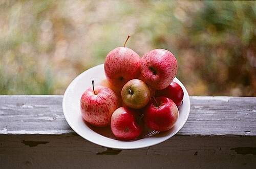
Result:
M100 85L81 96L82 118L93 126L110 125L123 140L137 138L144 124L155 131L174 127L183 90L174 82L177 60L165 49L148 51L142 58L125 44L109 52Z

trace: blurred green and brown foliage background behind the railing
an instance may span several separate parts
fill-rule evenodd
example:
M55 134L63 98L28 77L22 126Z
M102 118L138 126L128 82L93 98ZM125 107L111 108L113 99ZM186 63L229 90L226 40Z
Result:
M256 3L0 1L0 94L63 94L122 46L164 48L189 95L256 96Z

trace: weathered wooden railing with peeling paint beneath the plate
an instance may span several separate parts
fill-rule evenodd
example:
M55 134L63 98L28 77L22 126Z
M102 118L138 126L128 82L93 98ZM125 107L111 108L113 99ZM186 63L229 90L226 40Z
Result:
M256 97L190 97L187 122L155 146L117 150L76 134L59 95L0 95L0 168L255 168Z

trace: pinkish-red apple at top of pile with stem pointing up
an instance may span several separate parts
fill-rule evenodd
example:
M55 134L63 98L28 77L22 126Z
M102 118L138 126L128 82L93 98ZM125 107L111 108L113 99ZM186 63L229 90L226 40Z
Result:
M130 48L117 47L106 55L104 71L113 86L123 87L139 75L140 57Z

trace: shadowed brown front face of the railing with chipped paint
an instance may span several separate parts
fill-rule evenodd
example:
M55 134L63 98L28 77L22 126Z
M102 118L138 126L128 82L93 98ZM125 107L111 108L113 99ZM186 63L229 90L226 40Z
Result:
M113 150L76 134L0 136L1 168L255 168L254 136L175 135L158 145Z

